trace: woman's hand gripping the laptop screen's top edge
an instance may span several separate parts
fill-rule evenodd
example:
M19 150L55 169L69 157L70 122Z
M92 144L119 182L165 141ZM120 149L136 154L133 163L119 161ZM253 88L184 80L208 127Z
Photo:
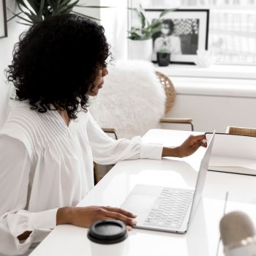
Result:
M195 153L200 146L205 148L207 146L205 135L190 135L181 146L176 148L164 147L162 157L189 157L191 154Z

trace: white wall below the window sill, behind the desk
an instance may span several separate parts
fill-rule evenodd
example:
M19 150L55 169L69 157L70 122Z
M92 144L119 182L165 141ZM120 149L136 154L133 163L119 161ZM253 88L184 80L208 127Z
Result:
M177 94L168 117L193 118L196 131L225 132L227 126L256 127L256 99ZM167 128L166 125L163 126ZM170 125L168 126L169 129ZM172 125L173 129L189 129L186 125Z

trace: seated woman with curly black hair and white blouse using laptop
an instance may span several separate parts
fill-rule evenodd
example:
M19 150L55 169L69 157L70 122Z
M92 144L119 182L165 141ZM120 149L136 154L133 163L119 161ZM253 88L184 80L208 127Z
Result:
M120 208L75 207L94 187L93 161L186 157L206 146L203 135L176 148L105 135L88 100L103 86L109 55L102 26L70 14L31 26L15 45L7 75L18 100L0 131L1 253L26 252L56 225L135 225Z

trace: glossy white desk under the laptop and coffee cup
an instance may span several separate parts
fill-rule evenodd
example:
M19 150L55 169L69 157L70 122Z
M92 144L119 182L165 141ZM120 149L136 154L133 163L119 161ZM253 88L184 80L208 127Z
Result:
M191 132L152 129L146 142L162 142L168 146L181 143ZM197 132L194 132L197 133ZM185 159L137 159L119 162L110 173L79 203L79 206L121 206L135 184L167 187L194 187L204 148ZM189 225L187 234L162 233L133 229L126 240L124 255L217 255L219 219L223 214L225 192L230 192L227 211L241 209L256 217L256 177L208 172L203 200ZM250 203L250 204L248 204ZM256 219L256 218L255 218ZM120 256L117 245L110 245L105 255ZM32 252L45 255L100 255L91 252L87 229L60 225ZM123 254L122 254L123 255ZM222 246L219 256L222 255ZM103 256L102 254L100 256Z

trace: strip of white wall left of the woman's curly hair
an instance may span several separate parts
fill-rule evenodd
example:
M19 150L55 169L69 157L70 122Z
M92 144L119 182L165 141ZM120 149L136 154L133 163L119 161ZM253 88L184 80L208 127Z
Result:
M15 0L8 0L7 8L12 10L12 12L17 12ZM12 17L12 13L7 11L7 18L10 17ZM4 75L4 69L11 64L13 45L15 42L18 42L20 33L27 28L27 26L20 25L15 20L11 20L8 23L8 37L0 39L0 127L6 119L9 110L7 99L10 94L10 86L5 83L7 79Z

